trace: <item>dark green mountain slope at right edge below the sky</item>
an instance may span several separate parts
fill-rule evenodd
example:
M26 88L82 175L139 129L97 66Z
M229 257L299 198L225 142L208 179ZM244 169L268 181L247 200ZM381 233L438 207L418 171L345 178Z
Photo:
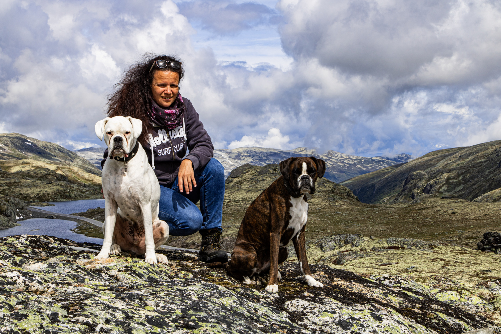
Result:
M497 201L501 197L501 140L433 151L341 184L364 203L405 203L430 196Z

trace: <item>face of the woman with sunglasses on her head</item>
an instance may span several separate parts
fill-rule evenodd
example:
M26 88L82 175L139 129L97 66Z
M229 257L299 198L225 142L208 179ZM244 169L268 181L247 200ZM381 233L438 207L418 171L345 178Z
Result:
M170 107L178 92L179 74L170 71L155 71L151 82L151 95L160 107Z

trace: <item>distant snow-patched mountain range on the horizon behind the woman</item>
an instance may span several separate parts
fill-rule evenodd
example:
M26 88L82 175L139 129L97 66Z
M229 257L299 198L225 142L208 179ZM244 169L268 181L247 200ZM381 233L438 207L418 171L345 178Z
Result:
M92 162L97 168L101 169L101 159L103 158L104 148L84 148L75 151L81 157ZM411 161L412 156L406 153L394 157L358 157L327 151L319 154L315 149L298 147L294 150L284 151L274 148L263 147L239 147L232 150L215 149L214 158L224 167L224 177L227 178L230 171L243 164L255 166L265 166L268 164L277 164L290 157L309 157L315 156L323 159L327 165L325 177L334 182L342 182L352 177L369 173L381 168L392 166L398 163Z

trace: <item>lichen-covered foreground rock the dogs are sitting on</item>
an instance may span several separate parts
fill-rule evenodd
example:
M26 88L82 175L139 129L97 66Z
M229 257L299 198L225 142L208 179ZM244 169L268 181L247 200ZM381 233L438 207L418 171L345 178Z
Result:
M93 259L99 245L48 236L0 239L0 330L30 333L450 333L494 326L419 291L398 277L368 279L311 265L310 287L297 263L249 285L206 267L193 253L165 252L169 265L123 254Z

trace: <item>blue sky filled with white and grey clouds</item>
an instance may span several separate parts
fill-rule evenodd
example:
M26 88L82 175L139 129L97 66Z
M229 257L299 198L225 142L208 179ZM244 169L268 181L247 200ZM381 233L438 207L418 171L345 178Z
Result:
M501 139L498 1L0 1L0 132L70 149L145 52L216 148L374 156Z

